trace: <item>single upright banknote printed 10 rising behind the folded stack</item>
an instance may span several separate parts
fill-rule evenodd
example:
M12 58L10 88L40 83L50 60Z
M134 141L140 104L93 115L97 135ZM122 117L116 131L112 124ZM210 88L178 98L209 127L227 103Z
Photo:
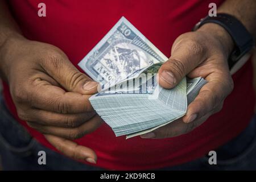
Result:
M102 85L113 86L143 68L168 60L125 17L82 59L79 66Z

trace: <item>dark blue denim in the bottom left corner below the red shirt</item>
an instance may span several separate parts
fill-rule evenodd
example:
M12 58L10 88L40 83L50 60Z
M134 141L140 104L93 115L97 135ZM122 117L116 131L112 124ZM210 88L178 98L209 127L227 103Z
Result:
M1 98L0 98L1 99ZM46 152L46 165L38 164L38 152ZM52 151L32 138L0 104L0 158L3 170L100 170Z

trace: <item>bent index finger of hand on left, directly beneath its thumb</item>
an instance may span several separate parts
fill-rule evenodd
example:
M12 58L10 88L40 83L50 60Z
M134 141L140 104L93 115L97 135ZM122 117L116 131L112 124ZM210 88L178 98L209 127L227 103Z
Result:
M65 92L51 84L30 88L30 105L32 107L57 113L83 113L94 111L88 94Z

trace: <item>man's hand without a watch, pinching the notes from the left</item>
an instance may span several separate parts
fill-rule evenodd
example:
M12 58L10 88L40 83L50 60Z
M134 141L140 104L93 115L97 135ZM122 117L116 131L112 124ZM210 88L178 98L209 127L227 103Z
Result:
M93 150L71 140L96 130L102 122L88 100L98 83L79 72L59 48L20 36L6 40L0 61L19 118L63 154L96 163Z

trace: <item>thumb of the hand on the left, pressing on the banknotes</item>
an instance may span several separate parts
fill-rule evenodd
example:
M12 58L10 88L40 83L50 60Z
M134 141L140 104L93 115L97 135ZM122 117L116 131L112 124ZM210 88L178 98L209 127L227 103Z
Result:
M81 94L97 92L98 83L81 73L62 51L49 54L48 59L40 64L48 75L70 92Z

